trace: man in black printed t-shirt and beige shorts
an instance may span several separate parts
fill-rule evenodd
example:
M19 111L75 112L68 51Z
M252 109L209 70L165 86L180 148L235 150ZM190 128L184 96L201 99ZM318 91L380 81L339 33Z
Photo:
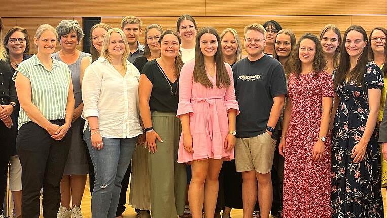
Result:
M261 217L270 214L271 168L278 139L286 82L282 65L263 53L266 31L260 24L245 27L248 57L234 64L234 84L240 114L236 118L236 171L243 177L243 217L251 218L258 197Z

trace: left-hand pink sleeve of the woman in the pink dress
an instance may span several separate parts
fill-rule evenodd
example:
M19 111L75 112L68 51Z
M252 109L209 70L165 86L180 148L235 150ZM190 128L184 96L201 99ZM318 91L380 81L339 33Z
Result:
M195 60L189 61L184 64L179 76L179 104L176 117L180 118L180 115L186 113L193 113L191 104L191 92L193 83L193 68L195 66Z

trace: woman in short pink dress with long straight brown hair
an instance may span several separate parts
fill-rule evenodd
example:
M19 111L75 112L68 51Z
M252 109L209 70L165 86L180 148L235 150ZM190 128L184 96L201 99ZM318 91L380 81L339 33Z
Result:
M221 41L212 27L196 37L196 58L180 73L177 117L182 123L178 162L192 166L188 200L193 218L213 218L218 175L224 160L234 159L235 99L232 69L224 63ZM219 49L218 49L219 48Z

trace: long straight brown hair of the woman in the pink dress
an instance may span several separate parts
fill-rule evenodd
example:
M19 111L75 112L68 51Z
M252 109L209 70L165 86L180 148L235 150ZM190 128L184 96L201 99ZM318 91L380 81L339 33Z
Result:
M200 38L206 33L214 35L218 41L218 49L214 55L214 61L216 64L216 85L218 88L228 87L230 86L230 77L228 76L226 66L224 65L220 37L217 33L217 30L215 30L213 27L203 27L202 29L200 29L199 33L196 36L195 67L193 71L194 82L198 82L207 88L213 88L213 84L211 81L209 81L205 70L204 55L203 53L201 53L200 49Z

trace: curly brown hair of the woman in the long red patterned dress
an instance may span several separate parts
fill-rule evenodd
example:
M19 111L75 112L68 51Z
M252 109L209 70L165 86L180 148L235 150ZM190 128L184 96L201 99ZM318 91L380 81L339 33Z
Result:
M292 72L294 72L297 77L301 74L301 71L302 71L299 53L300 53L301 41L304 39L310 39L316 45L316 54L314 55L314 60L313 60L313 75L315 76L321 71L324 71L327 66L327 60L324 57L323 47L321 46L319 38L312 33L306 33L302 35L302 37L298 40L297 45L294 48L294 52L290 59Z

